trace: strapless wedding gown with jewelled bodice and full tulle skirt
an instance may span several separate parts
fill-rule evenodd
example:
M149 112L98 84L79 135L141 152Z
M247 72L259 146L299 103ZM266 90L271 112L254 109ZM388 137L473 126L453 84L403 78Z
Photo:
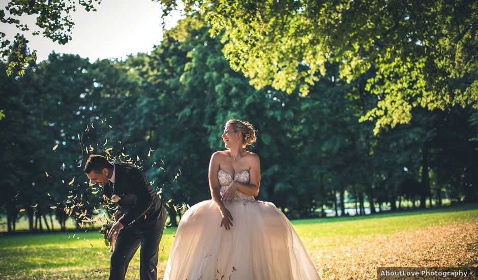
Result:
M219 170L221 194L233 181ZM235 180L248 183L249 171ZM212 200L200 202L183 215L176 231L165 280L292 280L320 279L287 217L270 202L237 190L231 203L230 230Z

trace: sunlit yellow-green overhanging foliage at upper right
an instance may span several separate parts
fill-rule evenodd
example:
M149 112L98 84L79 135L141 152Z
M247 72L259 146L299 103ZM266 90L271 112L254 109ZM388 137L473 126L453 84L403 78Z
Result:
M164 1L169 10L175 2ZM231 67L257 89L303 95L339 63L336 79L373 71L378 97L360 121L374 133L408 123L411 110L478 108L476 1L185 1L221 35Z

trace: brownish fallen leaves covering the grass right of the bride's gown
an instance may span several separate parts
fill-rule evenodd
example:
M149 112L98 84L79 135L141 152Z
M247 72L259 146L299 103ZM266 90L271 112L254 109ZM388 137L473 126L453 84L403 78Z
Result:
M476 266L476 228L478 220L389 235L340 237L334 242L316 238L305 243L330 245L311 254L322 278L376 279L378 267Z

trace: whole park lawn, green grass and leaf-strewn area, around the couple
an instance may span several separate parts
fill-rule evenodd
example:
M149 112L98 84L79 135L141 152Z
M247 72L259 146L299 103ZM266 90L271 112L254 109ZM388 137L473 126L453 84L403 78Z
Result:
M325 279L376 278L385 265L478 266L478 204L292 223ZM161 240L159 278L174 232ZM97 232L3 236L0 278L107 278L110 254ZM126 277L139 279L139 250Z

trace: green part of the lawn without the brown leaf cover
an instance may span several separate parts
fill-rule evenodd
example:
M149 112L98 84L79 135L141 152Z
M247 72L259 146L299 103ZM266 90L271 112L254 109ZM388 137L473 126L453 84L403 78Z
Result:
M362 236L389 235L476 219L478 204L469 204L357 217L303 219L292 223L306 247L320 250L324 246L350 242L351 237L360 241ZM160 274L166 266L174 231L174 228L166 229L161 240ZM316 242L318 239L321 242ZM0 278L106 278L110 254L103 237L96 232L3 236L0 237ZM139 250L130 269L127 278L138 278Z

